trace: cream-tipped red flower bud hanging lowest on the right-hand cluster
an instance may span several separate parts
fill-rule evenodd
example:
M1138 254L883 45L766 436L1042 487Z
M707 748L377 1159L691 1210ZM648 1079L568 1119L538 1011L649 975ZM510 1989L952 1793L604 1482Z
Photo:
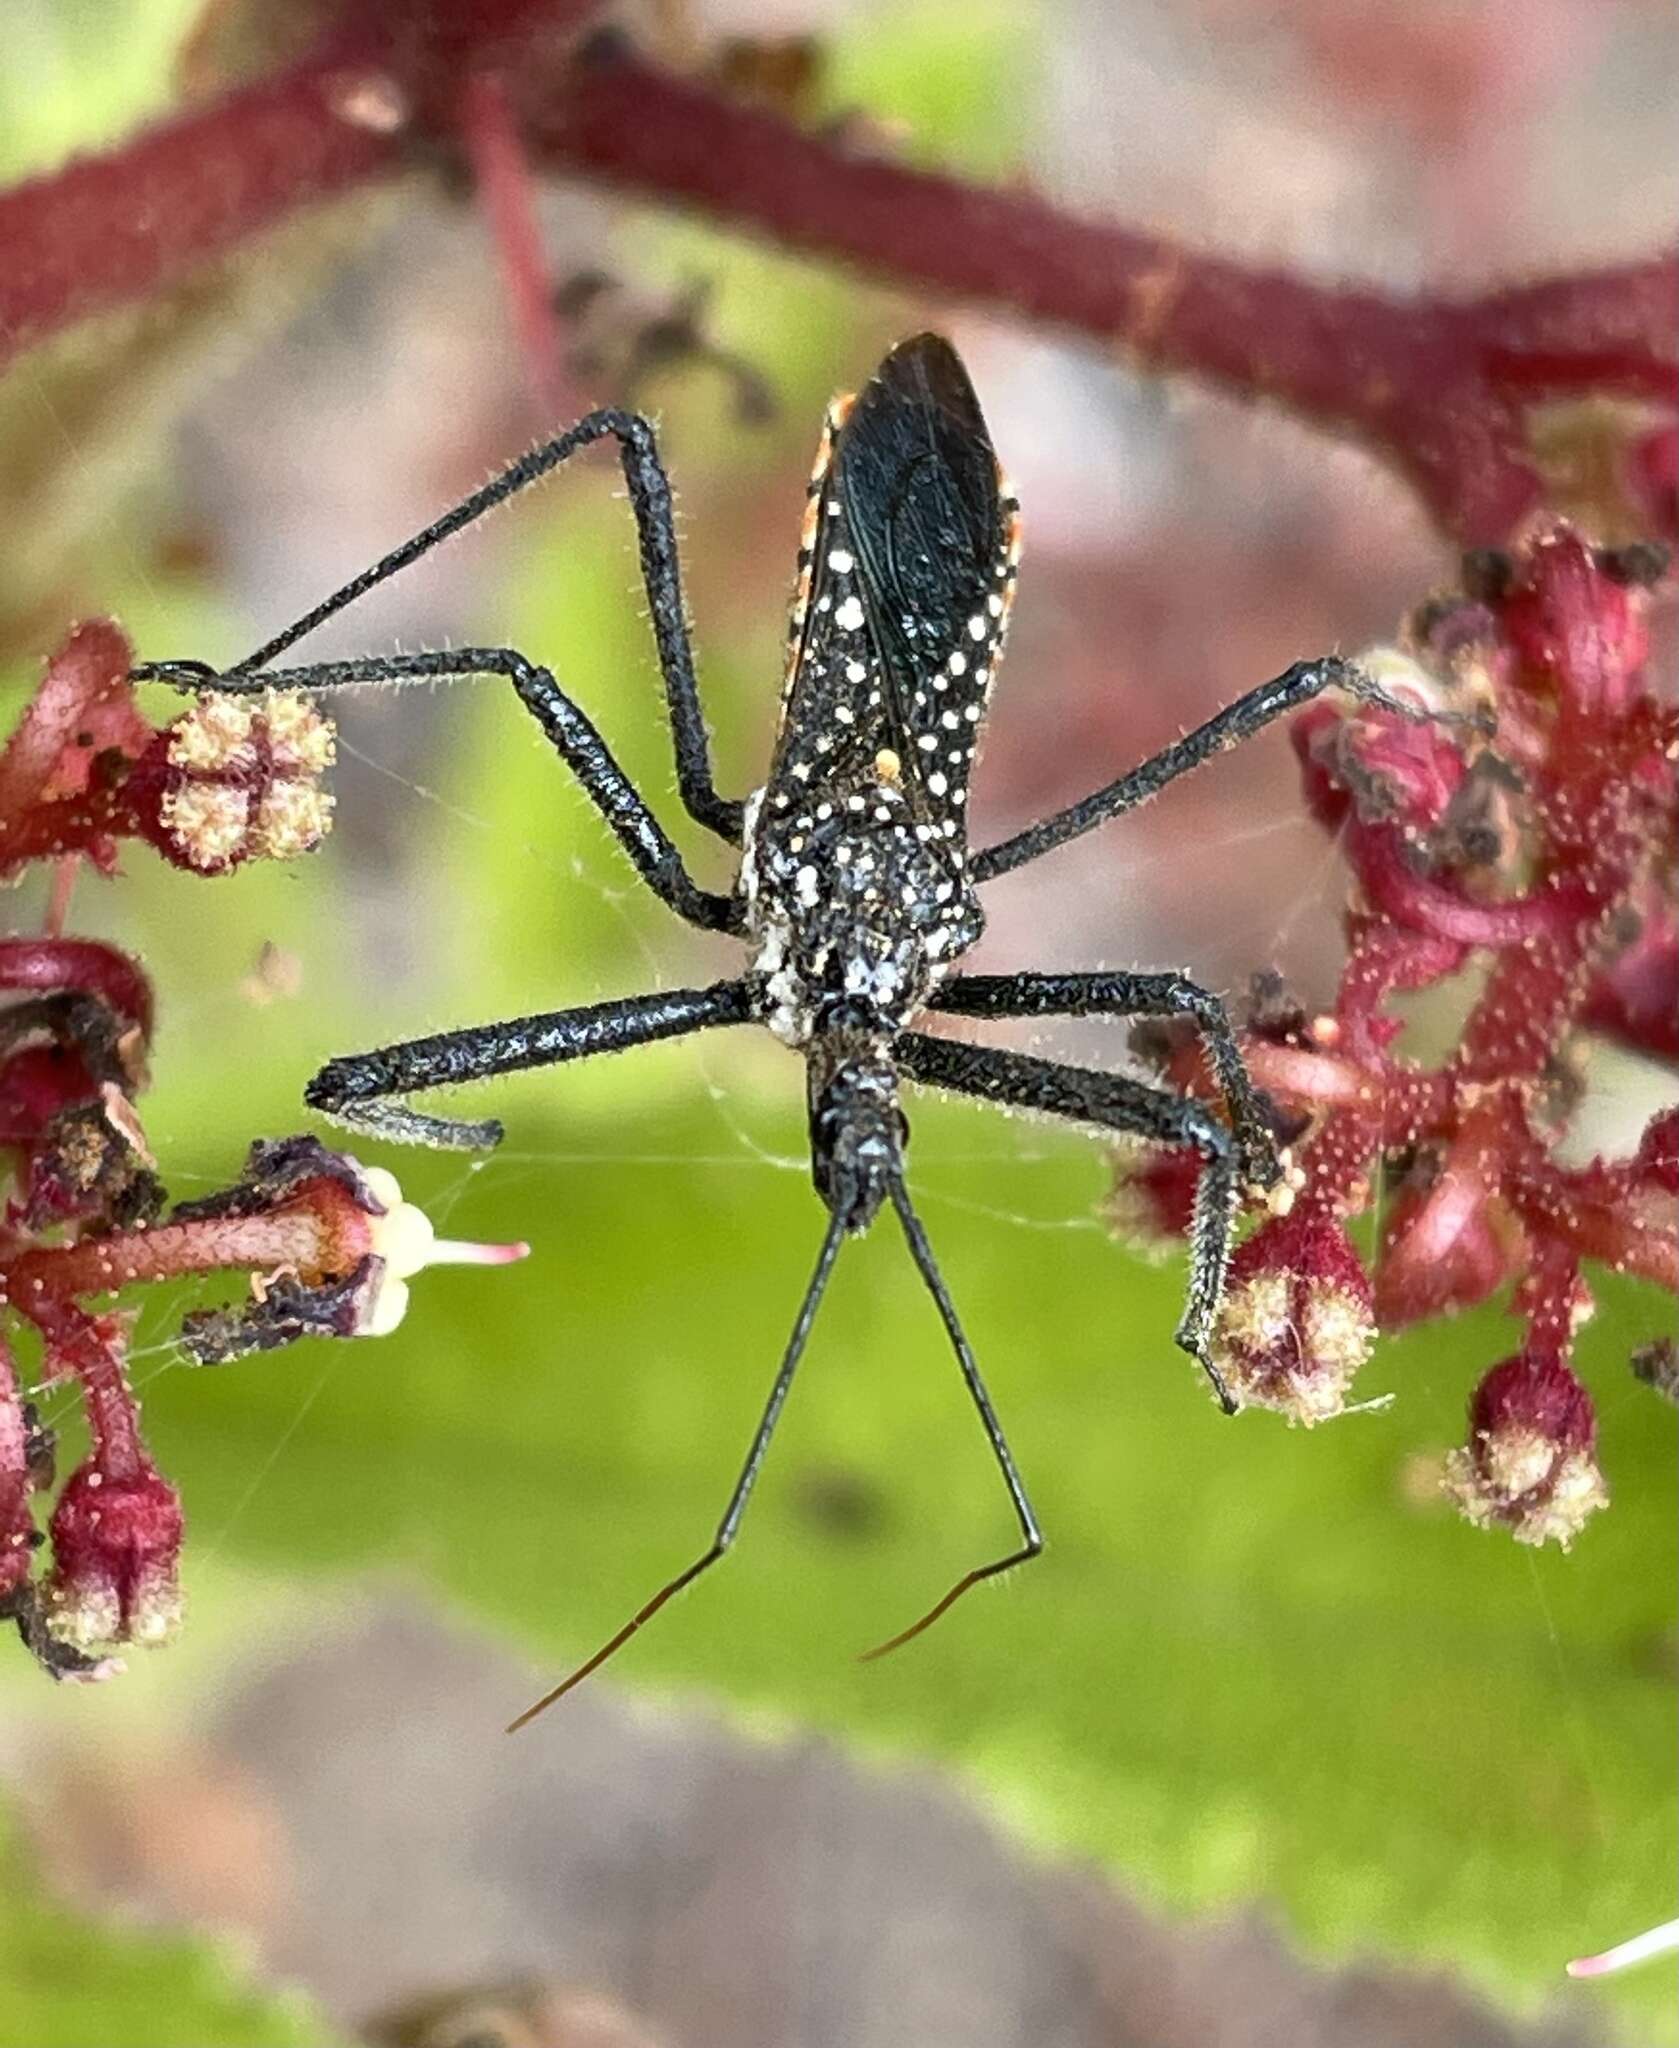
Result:
M1476 1528L1566 1550L1587 1516L1609 1505L1597 1468L1591 1395L1558 1358L1517 1354L1470 1399L1470 1440L1446 1460L1446 1491Z

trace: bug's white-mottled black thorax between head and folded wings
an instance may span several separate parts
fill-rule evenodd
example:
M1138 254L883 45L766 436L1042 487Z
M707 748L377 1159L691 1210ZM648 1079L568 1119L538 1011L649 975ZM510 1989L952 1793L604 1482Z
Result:
M747 803L741 860L766 1022L805 1047L825 1012L903 1030L983 930L958 854L887 782Z

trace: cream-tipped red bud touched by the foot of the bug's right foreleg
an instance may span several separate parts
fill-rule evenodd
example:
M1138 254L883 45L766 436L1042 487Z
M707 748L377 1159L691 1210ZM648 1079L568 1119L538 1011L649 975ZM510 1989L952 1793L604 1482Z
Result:
M1212 1352L1239 1403L1327 1421L1374 1341L1370 1278L1333 1217L1274 1217L1237 1249Z

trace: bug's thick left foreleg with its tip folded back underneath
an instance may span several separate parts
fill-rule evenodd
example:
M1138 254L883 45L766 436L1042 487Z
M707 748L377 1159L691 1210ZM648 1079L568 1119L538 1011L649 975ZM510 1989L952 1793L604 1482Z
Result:
M389 1098L420 1087L483 1081L524 1067L559 1067L596 1053L622 1053L633 1044L682 1038L713 1024L745 1024L754 1016L754 995L743 981L717 981L708 989L661 989L655 995L629 995L579 1010L551 1010L545 1016L477 1024L469 1030L379 1047L373 1053L352 1053L348 1059L330 1059L303 1090L303 1100L342 1124L401 1145L479 1151L502 1143L502 1124L493 1118L457 1122L428 1116L407 1102Z

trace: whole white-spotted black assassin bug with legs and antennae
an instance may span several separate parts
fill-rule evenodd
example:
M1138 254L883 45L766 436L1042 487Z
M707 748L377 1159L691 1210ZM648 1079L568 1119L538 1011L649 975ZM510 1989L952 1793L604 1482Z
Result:
M602 438L616 440L629 483L682 803L696 823L739 848L729 895L692 881L682 854L584 711L547 668L510 647L268 666L375 584ZM839 1245L866 1231L887 1204L956 1354L1014 1505L1018 1542L1005 1556L964 1573L919 1620L868 1655L917 1636L971 1587L1024 1565L1042 1548L1038 1518L909 1200L903 1169L909 1124L899 1108L905 1075L960 1096L1200 1153L1192 1272L1177 1343L1200 1362L1220 1403L1235 1407L1212 1360L1212 1321L1243 1184L1272 1188L1280 1161L1222 1004L1177 973L956 975L954 967L981 936L985 918L977 891L985 883L1134 809L1321 690L1339 686L1415 713L1349 662L1300 662L1081 803L975 852L966 831L968 780L1003 651L1018 559L1020 506L997 467L968 375L946 340L921 334L891 350L860 397L835 399L827 412L805 506L774 756L764 788L747 803L721 797L713 780L670 483L653 428L637 414L592 412L569 432L532 449L238 668L215 672L201 662L154 662L135 670L137 678L184 690L242 694L504 676L653 893L690 924L735 932L749 946L745 973L704 989L588 1004L332 1059L305 1090L313 1108L379 1137L471 1149L496 1145L502 1126L438 1118L405 1098L721 1024L766 1024L805 1059L811 1163L827 1231L717 1534L692 1565L512 1726L522 1726L606 1663L731 1546ZM1200 1030L1229 1122L1198 1100L1126 1075L928 1036L913 1030L923 1010L971 1018L1188 1018Z

